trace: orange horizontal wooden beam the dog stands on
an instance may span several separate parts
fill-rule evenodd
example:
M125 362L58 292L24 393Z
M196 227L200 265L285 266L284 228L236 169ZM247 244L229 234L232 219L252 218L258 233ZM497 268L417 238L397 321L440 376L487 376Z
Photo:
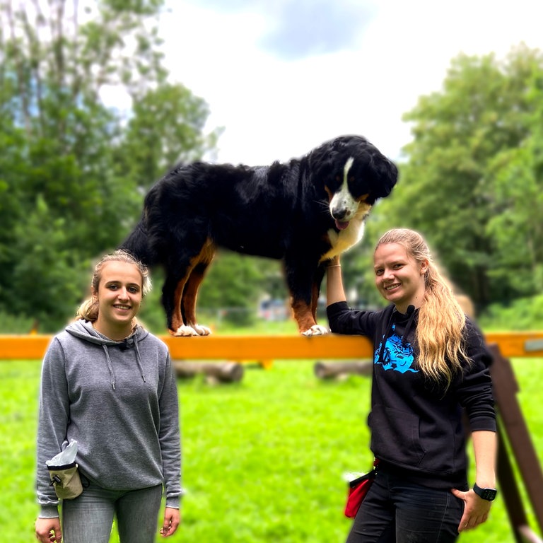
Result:
M0 360L42 358L52 336L0 335ZM160 336L172 358L185 360L281 360L372 358L370 341L361 336L303 337L298 335ZM486 342L497 344L506 358L543 358L543 332L492 332Z

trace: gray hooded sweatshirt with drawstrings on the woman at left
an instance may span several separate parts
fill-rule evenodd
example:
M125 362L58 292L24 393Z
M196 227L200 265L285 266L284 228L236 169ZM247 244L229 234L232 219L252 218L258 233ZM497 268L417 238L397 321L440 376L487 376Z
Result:
M166 506L179 508L177 384L163 341L141 326L112 341L84 320L52 339L42 364L37 431L41 517L59 516L45 461L72 439L83 481L121 491L164 484Z

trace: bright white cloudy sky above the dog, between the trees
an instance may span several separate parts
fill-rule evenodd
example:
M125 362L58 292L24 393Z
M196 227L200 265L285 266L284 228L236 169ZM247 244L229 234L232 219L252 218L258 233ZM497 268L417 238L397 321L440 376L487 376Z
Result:
M361 134L390 158L402 114L460 53L543 49L541 0L167 0L166 66L224 127L214 162L298 158Z

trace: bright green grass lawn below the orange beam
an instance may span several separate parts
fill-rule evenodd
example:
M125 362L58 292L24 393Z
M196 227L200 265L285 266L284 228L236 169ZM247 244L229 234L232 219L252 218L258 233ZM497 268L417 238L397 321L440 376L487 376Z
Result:
M518 359L514 366L518 397L543 461L543 360ZM0 527L10 543L35 541L39 378L39 361L0 362ZM234 385L211 386L202 377L180 381L187 495L182 526L169 540L344 542L351 521L343 516L342 474L369 469L372 462L369 388L370 379L361 376L317 380L313 361L246 367ZM533 518L532 528L537 530ZM498 498L486 525L460 541L513 542L503 501Z

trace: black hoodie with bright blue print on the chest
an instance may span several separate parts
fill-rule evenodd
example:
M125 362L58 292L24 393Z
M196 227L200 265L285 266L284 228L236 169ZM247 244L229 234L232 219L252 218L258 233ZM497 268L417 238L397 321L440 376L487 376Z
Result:
M410 309L412 306L410 307ZM370 448L390 469L434 488L467 490L467 457L462 411L472 431L496 431L489 372L491 354L469 319L465 347L472 361L445 390L416 364L418 310L399 313L351 310L345 302L327 308L330 329L373 339L374 364L368 426Z

